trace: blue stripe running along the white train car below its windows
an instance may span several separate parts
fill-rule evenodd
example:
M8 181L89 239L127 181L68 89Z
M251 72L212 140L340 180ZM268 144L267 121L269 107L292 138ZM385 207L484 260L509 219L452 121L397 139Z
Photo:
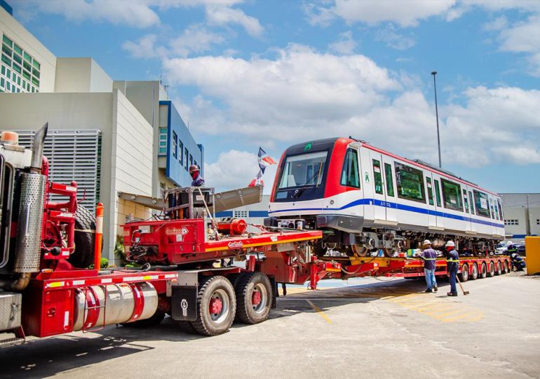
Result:
M346 208L351 208L353 206L359 206L359 205L383 206L384 208L395 208L395 209L398 209L400 211L421 213L421 214L424 214L424 215L434 215L434 216L437 216L437 217L452 218L453 220L468 221L468 222L474 222L475 224L489 225L489 226L504 228L504 224L497 224L496 222L490 222L490 221L486 221L486 220L476 220L475 218L465 217L465 216L462 216L462 215L452 215L452 213L432 211L431 209L419 208L417 206L407 206L405 204L393 203L391 201L381 201L381 200L377 200L377 199L358 199L358 200L355 200L355 201L351 201L349 204L346 204L346 205L344 205L344 206L342 206L340 208L283 209L281 211L270 211L269 214L281 213L281 212L295 212L295 211L343 211Z

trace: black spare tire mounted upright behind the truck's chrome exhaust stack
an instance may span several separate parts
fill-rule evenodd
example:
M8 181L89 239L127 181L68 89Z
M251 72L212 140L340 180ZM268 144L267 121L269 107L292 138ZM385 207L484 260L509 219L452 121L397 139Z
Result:
M95 216L81 205L75 212L75 250L67 259L78 268L86 268L94 260ZM100 267L96 267L97 270Z

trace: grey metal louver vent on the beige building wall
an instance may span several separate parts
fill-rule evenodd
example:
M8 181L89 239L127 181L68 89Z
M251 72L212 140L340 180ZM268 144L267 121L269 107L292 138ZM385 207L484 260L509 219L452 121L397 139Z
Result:
M34 131L17 131L19 144L32 147ZM43 155L49 160L49 180L62 184L77 182L77 198L91 212L99 200L101 176L101 131L49 129ZM85 194L86 191L86 194ZM53 195L53 201L62 201Z

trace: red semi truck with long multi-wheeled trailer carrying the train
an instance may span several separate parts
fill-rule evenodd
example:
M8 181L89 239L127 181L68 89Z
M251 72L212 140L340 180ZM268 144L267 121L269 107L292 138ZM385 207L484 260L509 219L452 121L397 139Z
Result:
M169 190L161 214L124 225L126 258L138 268L89 269L99 264L95 220L77 204L76 182L48 181L46 132L47 124L32 150L13 133L4 132L0 143L0 333L14 335L0 347L25 335L151 326L166 314L185 331L218 335L235 320L266 320L278 283L308 281L316 289L321 279L423 275L417 259L317 257L318 230L260 226L248 233L243 220L216 220L210 188ZM444 265L438 261L438 274ZM461 275L475 279L508 267L506 257L471 258L462 260Z

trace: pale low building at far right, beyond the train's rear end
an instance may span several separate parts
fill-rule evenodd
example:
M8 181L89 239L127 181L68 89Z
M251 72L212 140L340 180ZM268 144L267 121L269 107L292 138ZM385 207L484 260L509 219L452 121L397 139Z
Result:
M523 241L540 236L540 194L500 194L506 239Z

